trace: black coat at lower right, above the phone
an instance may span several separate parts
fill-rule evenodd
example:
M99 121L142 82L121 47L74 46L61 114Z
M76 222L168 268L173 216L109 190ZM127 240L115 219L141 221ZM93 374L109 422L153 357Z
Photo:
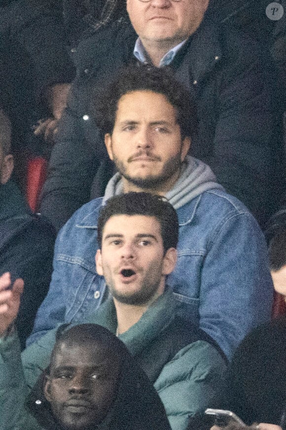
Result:
M211 407L232 410L247 424L281 425L286 412L285 357L286 317L253 330L234 354L222 398Z

